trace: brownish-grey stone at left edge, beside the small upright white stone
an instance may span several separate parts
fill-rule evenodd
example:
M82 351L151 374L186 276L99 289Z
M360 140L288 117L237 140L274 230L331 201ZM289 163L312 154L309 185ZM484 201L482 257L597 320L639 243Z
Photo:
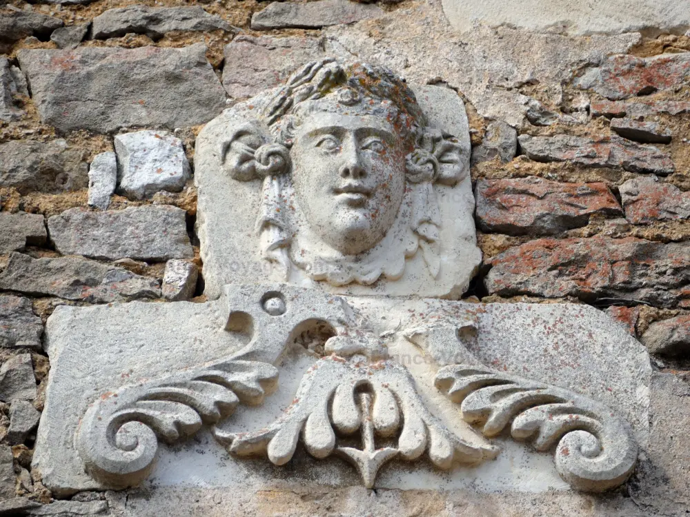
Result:
M79 190L87 185L84 152L68 148L64 140L0 143L0 187L15 187L20 194L28 194Z

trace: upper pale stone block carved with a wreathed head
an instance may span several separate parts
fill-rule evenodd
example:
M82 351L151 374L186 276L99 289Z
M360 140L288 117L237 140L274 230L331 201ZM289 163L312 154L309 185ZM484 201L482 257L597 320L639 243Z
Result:
M459 297L480 262L466 114L453 90L414 90L324 59L211 121L195 159L206 293L270 278Z

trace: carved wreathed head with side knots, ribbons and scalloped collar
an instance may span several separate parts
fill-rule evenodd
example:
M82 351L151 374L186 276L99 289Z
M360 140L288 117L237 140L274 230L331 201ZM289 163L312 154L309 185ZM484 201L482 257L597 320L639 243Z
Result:
M469 143L428 125L400 77L323 59L232 111L215 153L230 181L262 185L255 239L273 279L397 281L417 254L437 278L435 185L466 177Z

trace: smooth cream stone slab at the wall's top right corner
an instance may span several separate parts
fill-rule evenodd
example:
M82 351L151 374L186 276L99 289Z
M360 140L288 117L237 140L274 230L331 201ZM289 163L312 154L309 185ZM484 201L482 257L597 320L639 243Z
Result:
M462 32L471 30L475 23L482 23L491 27L513 26L578 35L640 30L662 34L690 28L690 14L685 7L673 0L594 3L526 0L519 5L509 0L443 0L443 10L451 25Z

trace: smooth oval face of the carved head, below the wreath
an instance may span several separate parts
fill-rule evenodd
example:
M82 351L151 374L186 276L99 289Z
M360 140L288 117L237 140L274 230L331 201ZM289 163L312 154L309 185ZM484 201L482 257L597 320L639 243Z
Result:
M314 232L348 255L381 241L402 203L406 154L381 116L317 112L304 119L290 155L297 201Z

